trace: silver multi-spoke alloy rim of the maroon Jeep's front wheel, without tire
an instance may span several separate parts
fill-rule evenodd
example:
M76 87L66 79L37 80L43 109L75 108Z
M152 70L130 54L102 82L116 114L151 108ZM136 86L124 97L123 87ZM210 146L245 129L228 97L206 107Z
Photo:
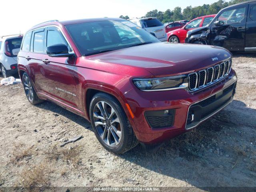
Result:
M107 102L96 103L93 121L101 140L108 146L117 146L122 138L122 124L114 108Z

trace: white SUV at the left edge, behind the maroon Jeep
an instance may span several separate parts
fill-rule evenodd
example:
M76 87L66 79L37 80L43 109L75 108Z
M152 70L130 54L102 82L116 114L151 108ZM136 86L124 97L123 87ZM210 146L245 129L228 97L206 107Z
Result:
M22 35L0 37L0 72L4 78L18 74L17 55L22 38Z

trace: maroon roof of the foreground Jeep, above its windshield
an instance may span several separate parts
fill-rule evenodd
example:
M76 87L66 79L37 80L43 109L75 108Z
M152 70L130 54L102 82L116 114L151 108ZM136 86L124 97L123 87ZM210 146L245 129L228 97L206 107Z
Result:
M68 20L68 21L50 21L50 22L44 22L40 23L36 26L33 26L29 30L34 30L36 28L49 26L49 25L57 25L57 26L65 26L65 25L71 25L71 24L78 24L78 23L89 23L89 22L97 22L97 21L126 21L125 19L121 18L90 18L90 19L79 19L79 20Z

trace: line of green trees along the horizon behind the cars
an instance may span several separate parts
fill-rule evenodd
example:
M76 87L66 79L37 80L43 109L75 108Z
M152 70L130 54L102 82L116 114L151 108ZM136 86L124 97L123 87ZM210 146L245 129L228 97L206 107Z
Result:
M213 4L204 4L202 6L192 7L187 6L183 11L180 7L175 7L174 10L167 9L165 12L158 11L157 9L149 11L146 13L145 16L141 17L156 17L162 23L173 22L178 20L192 20L194 18L204 16L204 15L211 15L217 14L223 8L240 3L246 0L230 0L226 2L224 0L219 0ZM121 15L120 18L129 19L129 16Z

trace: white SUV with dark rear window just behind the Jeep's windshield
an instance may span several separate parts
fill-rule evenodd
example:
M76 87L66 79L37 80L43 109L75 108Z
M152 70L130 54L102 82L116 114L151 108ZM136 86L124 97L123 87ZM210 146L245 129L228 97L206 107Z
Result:
M157 18L150 17L130 19L129 21L145 29L147 32L154 35L160 41L166 41L167 35L165 32L164 24L162 24Z

